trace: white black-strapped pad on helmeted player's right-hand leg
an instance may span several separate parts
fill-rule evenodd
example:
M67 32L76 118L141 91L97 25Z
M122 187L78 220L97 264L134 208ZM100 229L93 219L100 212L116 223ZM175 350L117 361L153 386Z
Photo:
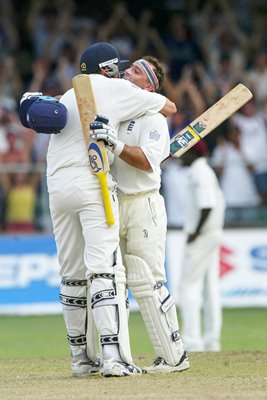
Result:
M114 266L114 274L91 277L91 302L102 346L117 344L121 359L132 364L126 308L126 277L124 270Z

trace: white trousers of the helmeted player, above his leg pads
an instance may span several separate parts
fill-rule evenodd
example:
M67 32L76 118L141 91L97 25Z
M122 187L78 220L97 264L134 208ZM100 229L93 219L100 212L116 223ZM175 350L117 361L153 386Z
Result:
M108 179L111 193L115 184L111 176ZM60 275L79 280L91 274L112 273L112 255L119 245L114 193L115 224L108 226L98 178L89 167L62 168L48 177L47 184Z

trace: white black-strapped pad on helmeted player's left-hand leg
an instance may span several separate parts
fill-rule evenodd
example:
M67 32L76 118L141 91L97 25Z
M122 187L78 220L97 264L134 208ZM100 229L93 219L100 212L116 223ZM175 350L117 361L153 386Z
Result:
M90 307L87 308L87 280L62 278L60 302L71 354L74 357L79 356L87 352L87 349L90 349L88 357L90 360L95 361L97 359L95 325L92 318L88 323L88 314L92 314L92 310Z

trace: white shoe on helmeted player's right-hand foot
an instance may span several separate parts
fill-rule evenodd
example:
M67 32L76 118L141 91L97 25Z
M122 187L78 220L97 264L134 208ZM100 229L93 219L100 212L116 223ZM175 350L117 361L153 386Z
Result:
M112 376L131 376L141 375L142 370L134 364L126 364L123 361L116 361L111 358L103 361L100 374L105 378Z

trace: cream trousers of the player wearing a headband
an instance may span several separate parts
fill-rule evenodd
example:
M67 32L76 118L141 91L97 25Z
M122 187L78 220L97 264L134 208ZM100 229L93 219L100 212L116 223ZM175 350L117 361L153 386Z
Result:
M166 282L167 217L164 198L158 191L119 196L119 210L122 258L124 254L142 258L151 268L156 282Z

